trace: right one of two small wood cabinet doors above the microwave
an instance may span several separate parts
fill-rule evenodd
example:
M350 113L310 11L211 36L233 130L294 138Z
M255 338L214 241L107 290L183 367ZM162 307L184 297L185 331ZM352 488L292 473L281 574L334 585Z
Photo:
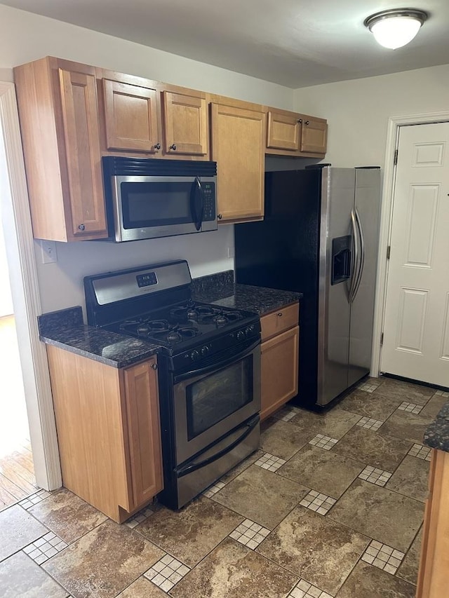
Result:
M166 153L205 156L208 153L206 100L163 91L162 102Z

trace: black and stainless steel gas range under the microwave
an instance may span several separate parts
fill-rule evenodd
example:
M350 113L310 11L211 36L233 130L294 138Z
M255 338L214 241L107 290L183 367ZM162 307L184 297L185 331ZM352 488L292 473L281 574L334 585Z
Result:
M187 261L84 279L88 324L160 346L164 489L180 508L259 445L260 321L192 301Z

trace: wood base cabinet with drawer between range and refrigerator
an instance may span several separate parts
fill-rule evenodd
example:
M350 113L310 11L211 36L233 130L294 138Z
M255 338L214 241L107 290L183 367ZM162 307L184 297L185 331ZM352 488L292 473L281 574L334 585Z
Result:
M264 315L261 345L260 419L297 395L300 329L298 304Z

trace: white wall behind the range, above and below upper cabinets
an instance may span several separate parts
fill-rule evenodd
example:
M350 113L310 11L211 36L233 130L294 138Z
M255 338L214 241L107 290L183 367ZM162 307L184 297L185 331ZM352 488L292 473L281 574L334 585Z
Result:
M12 67L46 55L293 109L294 92L283 86L0 4L1 79L12 81ZM119 245L57 243L55 264L40 263L36 241L42 311L83 305L82 280L88 274L180 258L189 261L194 277L232 269L233 229Z

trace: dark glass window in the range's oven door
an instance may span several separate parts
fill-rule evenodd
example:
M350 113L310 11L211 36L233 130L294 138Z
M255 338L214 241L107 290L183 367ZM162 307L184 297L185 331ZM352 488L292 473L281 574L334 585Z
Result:
M189 440L253 400L253 355L186 388Z

